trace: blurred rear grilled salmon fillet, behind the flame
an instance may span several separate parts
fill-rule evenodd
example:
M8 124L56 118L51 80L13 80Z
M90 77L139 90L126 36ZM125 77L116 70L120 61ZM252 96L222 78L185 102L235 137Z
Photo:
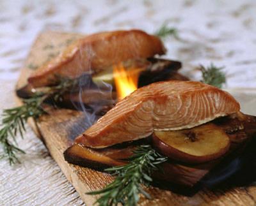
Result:
M28 78L33 87L56 83L56 76L79 77L97 73L113 64L165 53L162 41L140 30L92 34L74 42L60 55L38 68Z

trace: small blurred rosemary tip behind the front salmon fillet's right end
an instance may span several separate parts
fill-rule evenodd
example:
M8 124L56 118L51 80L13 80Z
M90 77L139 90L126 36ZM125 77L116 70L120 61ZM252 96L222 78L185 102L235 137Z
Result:
M202 82L222 88L223 84L226 83L225 73L222 71L223 68L224 67L214 66L212 63L210 66L207 66L207 68L200 65L199 69L202 71Z

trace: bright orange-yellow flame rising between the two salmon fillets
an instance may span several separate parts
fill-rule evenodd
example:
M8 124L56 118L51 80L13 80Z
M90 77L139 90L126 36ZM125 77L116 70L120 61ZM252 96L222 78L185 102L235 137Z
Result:
M139 71L140 69L136 68L129 68L129 70L125 70L122 63L114 66L113 76L118 99L123 99L125 96L138 89Z

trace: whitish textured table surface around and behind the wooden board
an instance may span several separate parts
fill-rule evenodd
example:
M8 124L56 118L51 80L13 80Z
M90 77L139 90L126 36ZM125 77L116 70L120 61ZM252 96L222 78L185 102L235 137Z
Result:
M45 30L95 33L138 28L154 33L177 28L167 38L166 57L182 61L182 73L199 80L198 64L225 66L226 89L244 112L256 115L256 2L0 1L0 110L15 105L13 91L36 35ZM0 161L0 205L83 205L49 152L29 127L20 147L22 164ZM196 203L195 203L196 204Z

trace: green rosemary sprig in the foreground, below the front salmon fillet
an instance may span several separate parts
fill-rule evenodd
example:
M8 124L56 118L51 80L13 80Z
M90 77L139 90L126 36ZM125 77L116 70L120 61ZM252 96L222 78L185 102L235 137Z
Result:
M150 145L141 145L127 160L129 161L127 165L106 169L106 172L116 175L111 184L99 191L87 193L88 195L101 195L95 203L100 206L118 205L118 203L134 206L140 200L140 194L150 198L142 185L148 186L152 182L152 172L158 170L158 165L167 158L157 153Z

